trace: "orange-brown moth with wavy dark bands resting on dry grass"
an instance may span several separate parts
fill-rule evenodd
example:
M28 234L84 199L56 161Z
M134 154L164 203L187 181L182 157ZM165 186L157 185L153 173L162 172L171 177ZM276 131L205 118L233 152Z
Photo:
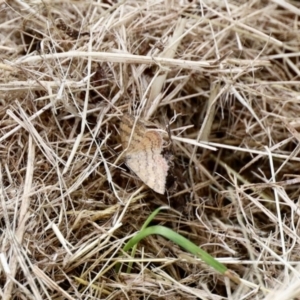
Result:
M120 133L126 165L152 190L164 194L169 166L161 155L161 134L128 114L121 119Z

